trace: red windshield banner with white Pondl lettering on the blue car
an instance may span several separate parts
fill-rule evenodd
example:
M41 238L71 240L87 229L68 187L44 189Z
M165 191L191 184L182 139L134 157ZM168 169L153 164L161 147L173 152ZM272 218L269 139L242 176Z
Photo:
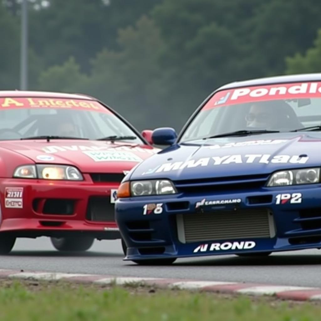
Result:
M263 100L318 98L321 82L298 82L269 86L242 87L217 92L202 110Z

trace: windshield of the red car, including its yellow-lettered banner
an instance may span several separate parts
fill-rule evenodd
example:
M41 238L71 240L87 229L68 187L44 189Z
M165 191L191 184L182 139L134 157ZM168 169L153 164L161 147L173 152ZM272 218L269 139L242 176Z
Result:
M142 143L130 127L97 101L0 97L0 140L37 136L129 137L124 140Z

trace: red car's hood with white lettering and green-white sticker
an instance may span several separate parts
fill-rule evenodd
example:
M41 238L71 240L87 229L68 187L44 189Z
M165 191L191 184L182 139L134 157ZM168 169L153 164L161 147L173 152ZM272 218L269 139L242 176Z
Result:
M36 163L74 165L83 173L122 172L160 151L148 145L110 141L2 141L2 148Z

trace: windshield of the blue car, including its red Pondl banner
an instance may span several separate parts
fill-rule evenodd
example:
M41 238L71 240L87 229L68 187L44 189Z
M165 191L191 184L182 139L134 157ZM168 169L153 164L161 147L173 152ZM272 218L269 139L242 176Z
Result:
M289 132L311 126L321 126L320 82L236 88L215 93L180 141L237 131Z

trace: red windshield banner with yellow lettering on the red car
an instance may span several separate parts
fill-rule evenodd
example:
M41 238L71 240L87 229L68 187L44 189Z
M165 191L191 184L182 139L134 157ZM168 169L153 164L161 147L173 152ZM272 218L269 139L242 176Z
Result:
M0 109L19 108L66 108L99 111L110 114L111 112L98 101L80 99L56 99L56 98L22 98L0 97Z

